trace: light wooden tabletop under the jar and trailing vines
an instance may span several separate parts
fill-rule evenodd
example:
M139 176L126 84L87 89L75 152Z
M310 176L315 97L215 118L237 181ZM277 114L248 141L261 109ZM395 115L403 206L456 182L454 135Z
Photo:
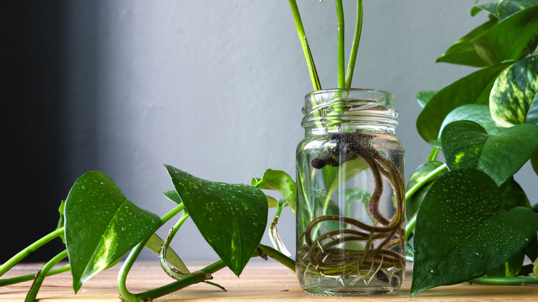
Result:
M192 270L207 263L189 263ZM39 263L19 265L7 276L34 273ZM82 285L77 295L71 288L70 272L48 277L37 295L39 302L46 301L119 301L116 278L119 265L97 274ZM249 263L241 278L228 269L214 275L213 281L223 285L223 292L211 285L197 284L179 292L163 296L154 301L538 301L538 286L504 286L459 284L432 288L410 297L410 276L402 289L390 296L330 297L312 296L303 293L297 278L290 270L275 261L253 261ZM154 262L135 263L128 277L130 292L142 292L170 282L159 264ZM24 301L31 282L0 288L0 301Z

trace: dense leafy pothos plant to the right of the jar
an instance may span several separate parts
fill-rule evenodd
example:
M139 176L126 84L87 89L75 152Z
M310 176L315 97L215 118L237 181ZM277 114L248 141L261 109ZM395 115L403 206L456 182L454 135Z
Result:
M417 129L432 152L408 184L411 294L538 283L524 265L538 258L538 204L513 177L528 161L538 174L538 1L476 3L479 12L488 20L437 61L480 69L417 96Z

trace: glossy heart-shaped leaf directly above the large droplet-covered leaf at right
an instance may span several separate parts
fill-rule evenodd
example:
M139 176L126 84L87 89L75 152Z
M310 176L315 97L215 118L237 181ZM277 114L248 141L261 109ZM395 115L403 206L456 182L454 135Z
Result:
M441 134L449 170L473 168L501 185L517 172L538 148L538 125L525 123L489 135L472 121L455 121Z

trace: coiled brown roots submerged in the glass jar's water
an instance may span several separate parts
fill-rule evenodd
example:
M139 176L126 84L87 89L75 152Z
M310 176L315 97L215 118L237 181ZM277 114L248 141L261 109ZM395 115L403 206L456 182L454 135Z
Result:
M375 183L375 189L368 199L368 214L373 225L341 214L323 215L310 221L301 239L306 243L304 257L297 261L305 268L305 274L341 275L372 274L373 278L381 268L399 269L403 266L403 201L404 183L395 163L383 157L371 145L371 137L359 131L335 135L331 139L335 147L335 157L318 157L312 160L313 168L325 165L341 166L357 157L368 165ZM381 214L379 201L383 194L382 177L390 183L395 198L396 214L388 220ZM337 223L330 228L330 223ZM323 225L325 228L321 228ZM317 234L324 230L322 234ZM315 238L314 238L314 234ZM341 245L349 245L342 248ZM395 250L395 247L397 248ZM377 270L373 270L377 268ZM370 279L371 279L370 278Z

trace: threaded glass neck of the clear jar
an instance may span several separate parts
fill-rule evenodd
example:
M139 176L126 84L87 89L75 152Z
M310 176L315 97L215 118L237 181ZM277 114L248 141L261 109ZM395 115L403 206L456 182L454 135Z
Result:
M307 133L362 130L394 134L394 95L383 90L333 89L306 94L301 126Z

